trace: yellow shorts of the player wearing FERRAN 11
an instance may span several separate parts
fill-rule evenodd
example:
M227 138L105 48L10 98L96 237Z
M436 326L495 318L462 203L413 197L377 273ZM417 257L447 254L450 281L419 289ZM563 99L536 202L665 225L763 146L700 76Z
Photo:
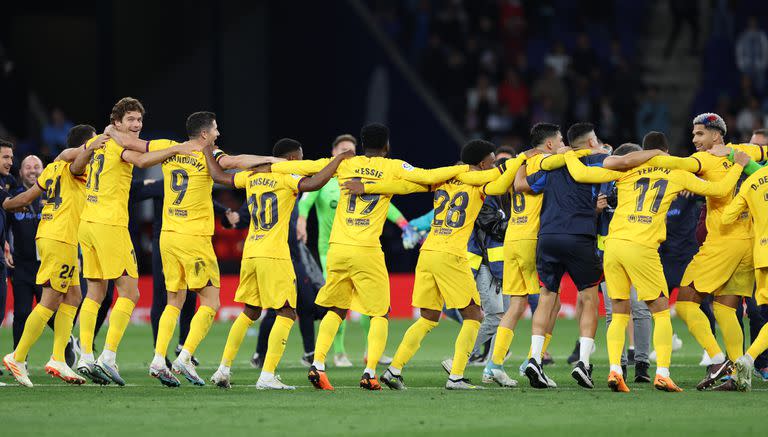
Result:
M642 301L669 296L658 249L628 240L608 237L605 240L603 274L611 299L629 300L630 287L635 286Z

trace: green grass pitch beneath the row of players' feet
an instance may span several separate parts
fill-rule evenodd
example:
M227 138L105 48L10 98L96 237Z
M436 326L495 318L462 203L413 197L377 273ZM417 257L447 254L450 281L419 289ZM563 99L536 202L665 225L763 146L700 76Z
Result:
M601 320L601 323L603 321ZM387 353L392 355L409 321L390 324ZM607 353L605 329L600 325L594 390L579 388L570 377L565 357L577 336L576 323L561 320L550 346L556 363L548 374L560 388L531 389L517 366L530 344L530 321L521 322L512 345L507 370L518 381L516 389L496 386L478 392L449 392L440 360L453 352L458 325L444 320L425 339L421 350L403 372L409 390L367 392L357 387L362 371L363 338L360 325L350 323L348 350L352 369L328 368L336 391L316 392L299 363L301 339L291 332L286 354L278 369L295 392L255 389L258 371L248 359L256 338L246 337L233 366L233 388L213 386L168 389L147 375L152 358L148 326L131 326L120 347L118 362L128 386L67 386L43 371L52 335L46 331L30 354L33 389L12 386L5 373L0 380L0 435L765 435L768 383L753 381L751 393L699 393L694 386L703 376L697 365L701 351L687 330L675 321L684 341L673 356L672 377L685 388L672 394L648 384L630 383L629 394L611 393L605 385ZM229 324L216 324L197 356L198 372L206 380L216 369ZM103 344L104 331L96 344ZM0 331L2 353L10 349L10 329ZM380 368L379 371L383 369ZM653 368L652 368L653 370ZM467 376L480 381L481 368L470 367ZM630 375L634 371L630 369Z

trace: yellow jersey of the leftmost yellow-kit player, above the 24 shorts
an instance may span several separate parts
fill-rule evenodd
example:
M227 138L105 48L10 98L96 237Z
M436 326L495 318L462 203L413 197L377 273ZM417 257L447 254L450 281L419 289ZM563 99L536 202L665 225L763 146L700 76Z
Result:
M80 213L85 203L85 176L73 175L69 166L69 162L54 161L37 178L37 185L45 192L45 204L35 238L76 246Z

